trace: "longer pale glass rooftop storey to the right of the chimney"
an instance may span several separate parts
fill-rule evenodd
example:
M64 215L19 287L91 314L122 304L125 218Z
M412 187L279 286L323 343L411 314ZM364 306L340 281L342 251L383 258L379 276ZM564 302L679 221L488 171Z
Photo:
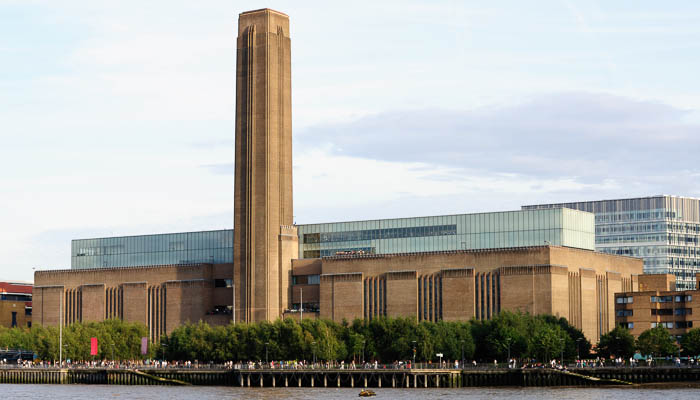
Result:
M390 254L552 244L593 250L593 215L507 211L299 225L299 256Z

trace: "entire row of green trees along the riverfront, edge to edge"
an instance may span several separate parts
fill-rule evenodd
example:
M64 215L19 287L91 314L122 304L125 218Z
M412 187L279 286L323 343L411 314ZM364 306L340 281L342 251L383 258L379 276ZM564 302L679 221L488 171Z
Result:
M35 326L1 328L0 348L23 349L42 360L58 359L58 328ZM121 320L75 323L63 329L63 358L91 360L90 338L98 339L95 359L137 360L161 358L226 362L248 360L354 360L392 363L399 360L436 362L476 360L504 362L509 357L548 361L577 358L665 357L700 355L700 329L691 329L680 340L663 327L635 338L627 329L615 328L603 335L591 355L591 343L565 318L502 311L490 320L417 322L415 318L376 318L335 323L328 320L280 319L274 322L210 326L191 323L164 335L159 344L149 342L141 354L145 325Z

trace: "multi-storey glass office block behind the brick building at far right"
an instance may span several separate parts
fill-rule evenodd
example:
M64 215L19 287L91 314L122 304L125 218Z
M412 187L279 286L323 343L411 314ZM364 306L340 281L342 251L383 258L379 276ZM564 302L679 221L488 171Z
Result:
M640 257L644 272L674 274L676 288L692 290L700 272L700 199L654 196L524 206L567 207L595 214L596 250Z

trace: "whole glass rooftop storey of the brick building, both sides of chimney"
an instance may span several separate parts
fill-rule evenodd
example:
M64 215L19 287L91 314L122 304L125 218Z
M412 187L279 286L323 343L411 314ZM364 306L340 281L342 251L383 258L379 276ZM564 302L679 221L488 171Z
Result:
M508 211L299 225L299 258L552 244L593 250L593 214ZM71 268L233 262L233 230L73 240Z

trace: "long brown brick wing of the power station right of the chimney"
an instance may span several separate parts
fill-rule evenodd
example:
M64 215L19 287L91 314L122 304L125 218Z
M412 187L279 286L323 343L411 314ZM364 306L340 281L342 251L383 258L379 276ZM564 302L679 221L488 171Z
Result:
M294 260L293 303L340 322L379 316L565 317L589 339L615 326L614 294L637 290L642 260L558 246ZM308 283L316 282L318 283Z

